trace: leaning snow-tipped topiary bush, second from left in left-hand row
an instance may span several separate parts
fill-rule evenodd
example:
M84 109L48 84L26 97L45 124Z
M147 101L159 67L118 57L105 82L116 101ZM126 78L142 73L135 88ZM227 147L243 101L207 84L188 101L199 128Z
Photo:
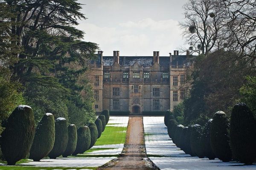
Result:
M40 161L52 150L55 141L55 123L52 113L46 113L35 129L35 138L29 158Z

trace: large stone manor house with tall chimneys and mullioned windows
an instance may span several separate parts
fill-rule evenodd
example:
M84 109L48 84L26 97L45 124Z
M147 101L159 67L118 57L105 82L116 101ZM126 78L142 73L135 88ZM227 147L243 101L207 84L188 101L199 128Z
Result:
M160 112L173 110L186 95L190 63L186 55L103 56L90 62L89 77L95 92L95 109L101 112Z

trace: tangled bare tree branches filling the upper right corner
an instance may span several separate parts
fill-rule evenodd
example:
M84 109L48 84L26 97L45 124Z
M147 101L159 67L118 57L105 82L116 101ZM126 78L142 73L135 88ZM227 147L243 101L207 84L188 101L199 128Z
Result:
M255 67L256 61L256 0L223 0L228 11L229 38L225 46Z

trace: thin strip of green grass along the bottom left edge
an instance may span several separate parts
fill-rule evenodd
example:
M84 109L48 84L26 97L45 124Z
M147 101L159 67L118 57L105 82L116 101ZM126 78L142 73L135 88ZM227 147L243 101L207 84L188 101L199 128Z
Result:
M29 167L29 166L0 166L0 170L96 170L97 167Z

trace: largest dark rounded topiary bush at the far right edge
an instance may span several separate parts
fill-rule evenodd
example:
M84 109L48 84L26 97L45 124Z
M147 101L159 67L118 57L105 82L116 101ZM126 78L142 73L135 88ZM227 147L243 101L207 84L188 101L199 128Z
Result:
M235 105L230 119L230 147L240 162L256 161L256 120L244 103Z

